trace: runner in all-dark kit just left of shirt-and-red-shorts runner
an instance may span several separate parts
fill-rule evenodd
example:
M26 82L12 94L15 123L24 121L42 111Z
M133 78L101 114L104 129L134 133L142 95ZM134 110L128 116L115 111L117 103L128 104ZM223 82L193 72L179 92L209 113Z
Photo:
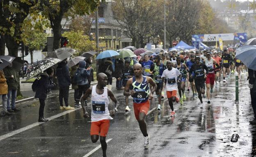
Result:
M206 70L206 74L208 74L208 68L205 64L200 62L200 57L197 56L195 59L195 64L193 64L190 68L190 78L194 77L195 86L197 89L198 97L201 102L200 108L203 108L203 100L202 95L205 93L205 83L204 83L204 69ZM191 75L194 72L194 76Z

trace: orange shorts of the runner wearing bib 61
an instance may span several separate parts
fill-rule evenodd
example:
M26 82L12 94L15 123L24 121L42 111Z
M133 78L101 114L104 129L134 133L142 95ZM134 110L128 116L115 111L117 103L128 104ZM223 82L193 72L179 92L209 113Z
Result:
M97 122L91 122L91 135L99 135L102 137L107 136L110 126L110 119L103 119Z

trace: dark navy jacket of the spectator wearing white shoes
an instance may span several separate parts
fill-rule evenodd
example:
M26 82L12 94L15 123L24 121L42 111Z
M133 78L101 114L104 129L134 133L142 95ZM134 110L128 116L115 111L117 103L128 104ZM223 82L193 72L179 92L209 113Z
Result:
M70 86L71 78L69 74L69 67L65 61L59 63L56 69L56 75L59 82L59 87Z

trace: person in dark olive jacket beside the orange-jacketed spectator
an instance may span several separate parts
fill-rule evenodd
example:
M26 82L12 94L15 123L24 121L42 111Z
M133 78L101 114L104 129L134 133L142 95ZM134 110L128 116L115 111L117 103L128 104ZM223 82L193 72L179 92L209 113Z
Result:
M3 71L7 79L6 82L8 85L7 111L10 113L20 111L20 109L16 108L15 106L17 89L20 84L18 71L12 67L12 64L7 66ZM11 106L10 106L10 100L11 100Z

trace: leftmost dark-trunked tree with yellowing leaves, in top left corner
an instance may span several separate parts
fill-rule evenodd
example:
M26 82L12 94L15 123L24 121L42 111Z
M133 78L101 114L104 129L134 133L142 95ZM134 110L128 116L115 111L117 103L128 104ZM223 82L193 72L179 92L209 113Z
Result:
M1 54L5 54L6 44L9 55L18 56L23 21L37 2L38 0L0 0Z

